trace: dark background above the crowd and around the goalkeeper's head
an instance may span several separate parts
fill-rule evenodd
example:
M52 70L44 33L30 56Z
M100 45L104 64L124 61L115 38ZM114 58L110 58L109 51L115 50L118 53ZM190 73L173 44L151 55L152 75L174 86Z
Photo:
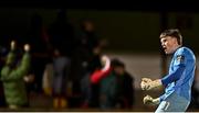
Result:
M3 0L0 1L1 45L7 45L9 37L21 37L23 41L34 13L43 18L48 27L57 9L67 10L70 22L76 29L81 19L92 19L98 35L108 41L107 49L111 50L157 53L159 33L168 27L180 29L184 43L196 53L199 50L199 8L196 1L190 0Z

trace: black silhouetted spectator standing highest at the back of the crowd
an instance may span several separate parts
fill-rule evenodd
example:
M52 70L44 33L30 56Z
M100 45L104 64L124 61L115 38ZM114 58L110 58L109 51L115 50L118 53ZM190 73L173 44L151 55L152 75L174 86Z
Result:
M71 57L74 52L74 27L69 22L66 10L60 9L55 21L50 25L48 34L53 47L64 48Z

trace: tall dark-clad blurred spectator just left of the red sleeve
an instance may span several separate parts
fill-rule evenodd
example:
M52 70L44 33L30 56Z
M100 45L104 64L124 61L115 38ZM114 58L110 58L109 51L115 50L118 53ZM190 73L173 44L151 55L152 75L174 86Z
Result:
M73 101L71 102L75 104L80 103L81 97L83 100L85 97L88 97L87 94L85 95L85 93L88 93L90 91L85 89L91 87L90 75L101 65L100 53L102 49L100 37L95 33L93 22L91 20L83 20L80 26L81 33L77 35L75 41L75 50L72 57L70 77L73 86L73 95L76 98L73 98Z

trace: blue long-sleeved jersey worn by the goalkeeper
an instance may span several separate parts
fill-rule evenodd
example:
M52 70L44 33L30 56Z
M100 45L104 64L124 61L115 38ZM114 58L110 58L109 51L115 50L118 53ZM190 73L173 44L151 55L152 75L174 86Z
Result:
M195 54L188 47L179 47L172 56L169 74L161 78L166 88L160 101L167 99L174 92L190 101L195 69Z

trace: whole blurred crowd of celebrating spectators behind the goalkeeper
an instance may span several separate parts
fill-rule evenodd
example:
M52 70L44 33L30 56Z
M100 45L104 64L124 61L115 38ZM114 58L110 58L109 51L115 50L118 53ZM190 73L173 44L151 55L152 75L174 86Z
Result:
M50 27L35 14L25 38L6 42L0 47L2 108L30 108L32 92L53 98L54 109L133 108L134 77L121 59L103 53L107 42L97 36L92 20L82 20L76 34L65 10Z

